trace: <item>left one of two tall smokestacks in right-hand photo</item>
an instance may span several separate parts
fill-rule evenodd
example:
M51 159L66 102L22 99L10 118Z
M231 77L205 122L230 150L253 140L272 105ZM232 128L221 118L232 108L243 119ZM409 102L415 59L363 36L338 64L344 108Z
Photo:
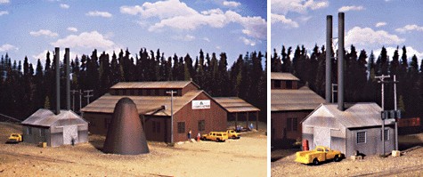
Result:
M326 16L326 102L330 102L332 94L332 15Z

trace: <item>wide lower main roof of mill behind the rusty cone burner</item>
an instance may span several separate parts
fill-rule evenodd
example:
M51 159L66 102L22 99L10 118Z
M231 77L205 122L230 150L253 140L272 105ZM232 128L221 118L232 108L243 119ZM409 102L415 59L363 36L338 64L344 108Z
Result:
M183 106L190 103L199 93L204 91L196 90L183 94L183 96L174 97L174 113ZM116 103L121 98L128 97L134 101L138 114L155 115L155 116L170 116L170 96L127 96L127 95L103 95L96 101L81 109L83 112L98 112L98 113L113 113ZM157 111L161 106L166 106L167 109Z

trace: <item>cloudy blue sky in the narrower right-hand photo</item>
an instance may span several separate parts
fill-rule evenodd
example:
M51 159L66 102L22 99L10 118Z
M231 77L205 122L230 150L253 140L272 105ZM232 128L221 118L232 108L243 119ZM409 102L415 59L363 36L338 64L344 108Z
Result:
M338 37L338 12L345 12L345 46L357 51L373 51L378 57L382 46L392 57L403 45L407 57L423 59L423 19L419 0L271 0L271 48L281 52L282 44L305 45L308 52L315 44L326 43L326 16L332 15L333 36ZM335 41L336 42L336 41Z

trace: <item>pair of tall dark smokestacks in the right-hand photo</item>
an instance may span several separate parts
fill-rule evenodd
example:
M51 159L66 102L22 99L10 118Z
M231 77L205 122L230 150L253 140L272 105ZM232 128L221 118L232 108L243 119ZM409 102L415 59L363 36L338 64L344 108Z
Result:
M326 18L326 102L331 100L332 86L332 16ZM338 13L338 109L345 110L344 106L344 30L345 30L345 14Z

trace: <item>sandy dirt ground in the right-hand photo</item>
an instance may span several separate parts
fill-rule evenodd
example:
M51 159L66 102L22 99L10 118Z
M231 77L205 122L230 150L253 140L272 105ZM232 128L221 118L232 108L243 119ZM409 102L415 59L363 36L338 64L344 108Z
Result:
M322 165L294 162L299 149L272 151L272 176L423 176L423 133L399 136L401 157L367 156Z

